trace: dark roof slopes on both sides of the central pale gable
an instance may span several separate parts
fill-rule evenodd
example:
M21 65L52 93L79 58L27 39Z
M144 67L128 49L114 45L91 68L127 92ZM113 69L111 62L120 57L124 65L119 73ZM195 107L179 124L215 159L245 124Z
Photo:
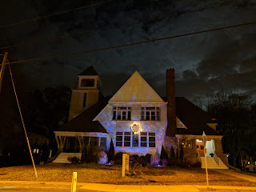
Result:
M74 132L100 132L106 133L105 128L100 122L93 119L102 111L107 105L110 97L104 98L88 110L67 122L64 126L60 127L58 131L74 131ZM166 100L163 98L163 100ZM184 123L187 129L177 128L176 134L193 134L202 135L205 131L206 135L220 135L206 123L214 123L211 115L204 110L195 106L186 98L176 97L176 115Z

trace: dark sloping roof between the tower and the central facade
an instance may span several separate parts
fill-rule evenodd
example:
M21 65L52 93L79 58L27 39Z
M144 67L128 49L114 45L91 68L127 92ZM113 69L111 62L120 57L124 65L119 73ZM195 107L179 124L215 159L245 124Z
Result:
M64 126L60 127L57 131L73 131L73 132L99 132L106 133L105 128L98 121L93 119L101 112L106 106L107 100L97 102L94 106L79 114L77 117L67 122Z

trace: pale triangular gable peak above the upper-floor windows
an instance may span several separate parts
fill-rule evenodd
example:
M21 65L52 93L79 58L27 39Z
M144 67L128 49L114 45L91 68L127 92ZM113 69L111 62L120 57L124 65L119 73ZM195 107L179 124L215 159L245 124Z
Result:
M164 102L138 71L126 81L109 102Z

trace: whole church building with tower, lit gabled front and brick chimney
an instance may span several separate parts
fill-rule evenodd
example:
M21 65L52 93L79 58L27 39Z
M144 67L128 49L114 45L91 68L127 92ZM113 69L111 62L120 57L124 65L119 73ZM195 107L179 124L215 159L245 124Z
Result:
M54 131L58 158L62 162L86 146L107 150L112 139L115 153L170 154L183 150L183 159L201 161L204 166L202 133L207 135L207 158L217 168L226 168L222 135L217 123L186 98L175 97L174 69L166 70L166 98L161 98L135 71L113 97L100 94L102 81L90 66L78 74L78 88L72 90L69 122ZM207 159L208 160L208 159ZM216 168L216 167L215 167Z

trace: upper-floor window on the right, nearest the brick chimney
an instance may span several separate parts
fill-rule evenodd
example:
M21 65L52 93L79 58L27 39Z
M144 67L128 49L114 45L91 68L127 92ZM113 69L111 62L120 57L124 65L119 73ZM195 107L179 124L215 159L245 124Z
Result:
M142 106L142 121L160 121L160 108Z

